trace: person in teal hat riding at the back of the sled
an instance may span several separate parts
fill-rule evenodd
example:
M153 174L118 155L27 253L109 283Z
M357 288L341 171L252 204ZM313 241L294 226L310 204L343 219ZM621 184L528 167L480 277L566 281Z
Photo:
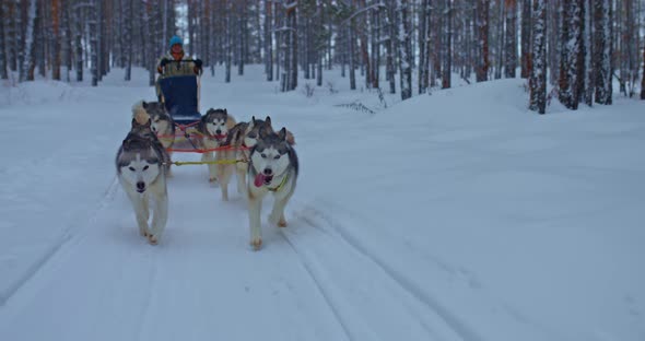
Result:
M156 96L163 101L160 87L160 80L173 75L201 75L201 60L187 57L184 52L184 42L178 36L173 36L168 42L169 51L159 59L156 72L160 74L156 80Z

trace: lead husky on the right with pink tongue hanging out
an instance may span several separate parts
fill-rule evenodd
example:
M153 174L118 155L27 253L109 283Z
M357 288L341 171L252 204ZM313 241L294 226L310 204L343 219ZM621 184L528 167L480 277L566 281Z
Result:
M250 150L247 184L250 245L255 250L262 246L262 199L269 191L273 192L273 210L269 221L279 227L285 227L284 208L295 191L297 174L297 155L286 141L286 129L282 128L278 133L267 129L259 130L259 139Z

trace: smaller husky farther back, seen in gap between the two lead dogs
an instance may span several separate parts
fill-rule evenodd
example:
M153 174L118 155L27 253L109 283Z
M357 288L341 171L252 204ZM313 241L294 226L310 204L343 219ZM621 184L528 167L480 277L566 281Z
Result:
M201 134L201 145L207 149L216 149L226 144L228 131L235 126L235 119L228 115L226 109L210 108L199 121L197 131ZM224 153L216 151L203 153L201 161L212 162L224 160ZM209 164L209 181L220 181L222 184L222 199L228 200L227 184L231 177L231 172L227 167L222 167L219 164Z

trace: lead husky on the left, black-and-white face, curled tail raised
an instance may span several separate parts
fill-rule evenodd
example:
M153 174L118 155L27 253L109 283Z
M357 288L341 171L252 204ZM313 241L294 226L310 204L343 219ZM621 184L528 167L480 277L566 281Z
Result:
M139 233L156 245L162 237L168 216L166 189L169 158L150 128L150 119L141 113L132 119L132 129L124 140L116 156L117 176L132 202ZM149 201L152 199L154 215L149 228Z

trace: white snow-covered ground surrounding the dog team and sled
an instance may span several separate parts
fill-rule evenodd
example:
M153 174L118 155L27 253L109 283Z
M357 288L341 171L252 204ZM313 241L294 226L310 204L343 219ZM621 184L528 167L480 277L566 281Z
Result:
M204 77L201 106L295 134L290 225L268 199L258 252L206 166L174 169L162 243L138 236L114 157L142 70L0 87L0 340L645 340L645 102L539 116L504 80L384 108L261 70Z

